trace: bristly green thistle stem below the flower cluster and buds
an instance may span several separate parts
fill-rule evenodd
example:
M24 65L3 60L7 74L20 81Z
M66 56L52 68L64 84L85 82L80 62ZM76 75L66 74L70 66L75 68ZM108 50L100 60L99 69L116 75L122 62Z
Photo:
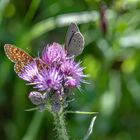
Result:
M57 113L53 112L53 116L58 140L69 140L65 124L65 113L63 108L61 108L61 110Z

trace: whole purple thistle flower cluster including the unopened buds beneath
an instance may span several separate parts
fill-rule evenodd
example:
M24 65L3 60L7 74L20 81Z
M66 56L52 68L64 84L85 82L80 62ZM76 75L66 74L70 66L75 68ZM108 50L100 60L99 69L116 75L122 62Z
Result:
M45 101L51 100L53 107L59 110L59 104L66 100L67 91L79 88L84 82L83 69L80 63L74 61L74 57L69 57L63 47L57 43L47 46L41 58L34 58L34 61L24 67L20 78L33 84L38 91L31 92L29 98L37 106L44 108ZM66 91L67 89L67 91ZM55 98L53 98L53 97ZM52 107L52 109L53 109Z

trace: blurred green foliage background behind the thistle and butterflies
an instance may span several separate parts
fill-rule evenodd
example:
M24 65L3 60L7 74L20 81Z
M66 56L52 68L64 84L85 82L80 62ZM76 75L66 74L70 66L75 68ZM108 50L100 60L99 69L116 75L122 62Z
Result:
M0 139L54 140L49 112L27 112L32 90L4 54L6 43L32 56L44 46L64 44L76 22L85 37L77 61L89 85L75 91L69 110L98 111L91 140L140 138L140 0L0 0ZM92 116L69 114L72 140L86 134Z

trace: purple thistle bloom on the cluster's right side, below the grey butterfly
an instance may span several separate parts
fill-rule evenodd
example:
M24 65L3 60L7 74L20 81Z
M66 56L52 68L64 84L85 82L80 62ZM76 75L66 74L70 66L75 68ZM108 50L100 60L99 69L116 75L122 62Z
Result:
M65 85L68 87L79 87L80 82L85 77L82 70L83 68L80 67L80 63L74 62L73 59L66 60L61 65L61 71L65 77Z

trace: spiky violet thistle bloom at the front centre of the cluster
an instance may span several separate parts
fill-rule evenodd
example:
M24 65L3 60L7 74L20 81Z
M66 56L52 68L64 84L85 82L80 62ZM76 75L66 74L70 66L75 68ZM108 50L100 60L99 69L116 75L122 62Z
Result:
M38 84L35 88L40 91L59 90L62 87L62 75L55 68L43 69L40 73Z

